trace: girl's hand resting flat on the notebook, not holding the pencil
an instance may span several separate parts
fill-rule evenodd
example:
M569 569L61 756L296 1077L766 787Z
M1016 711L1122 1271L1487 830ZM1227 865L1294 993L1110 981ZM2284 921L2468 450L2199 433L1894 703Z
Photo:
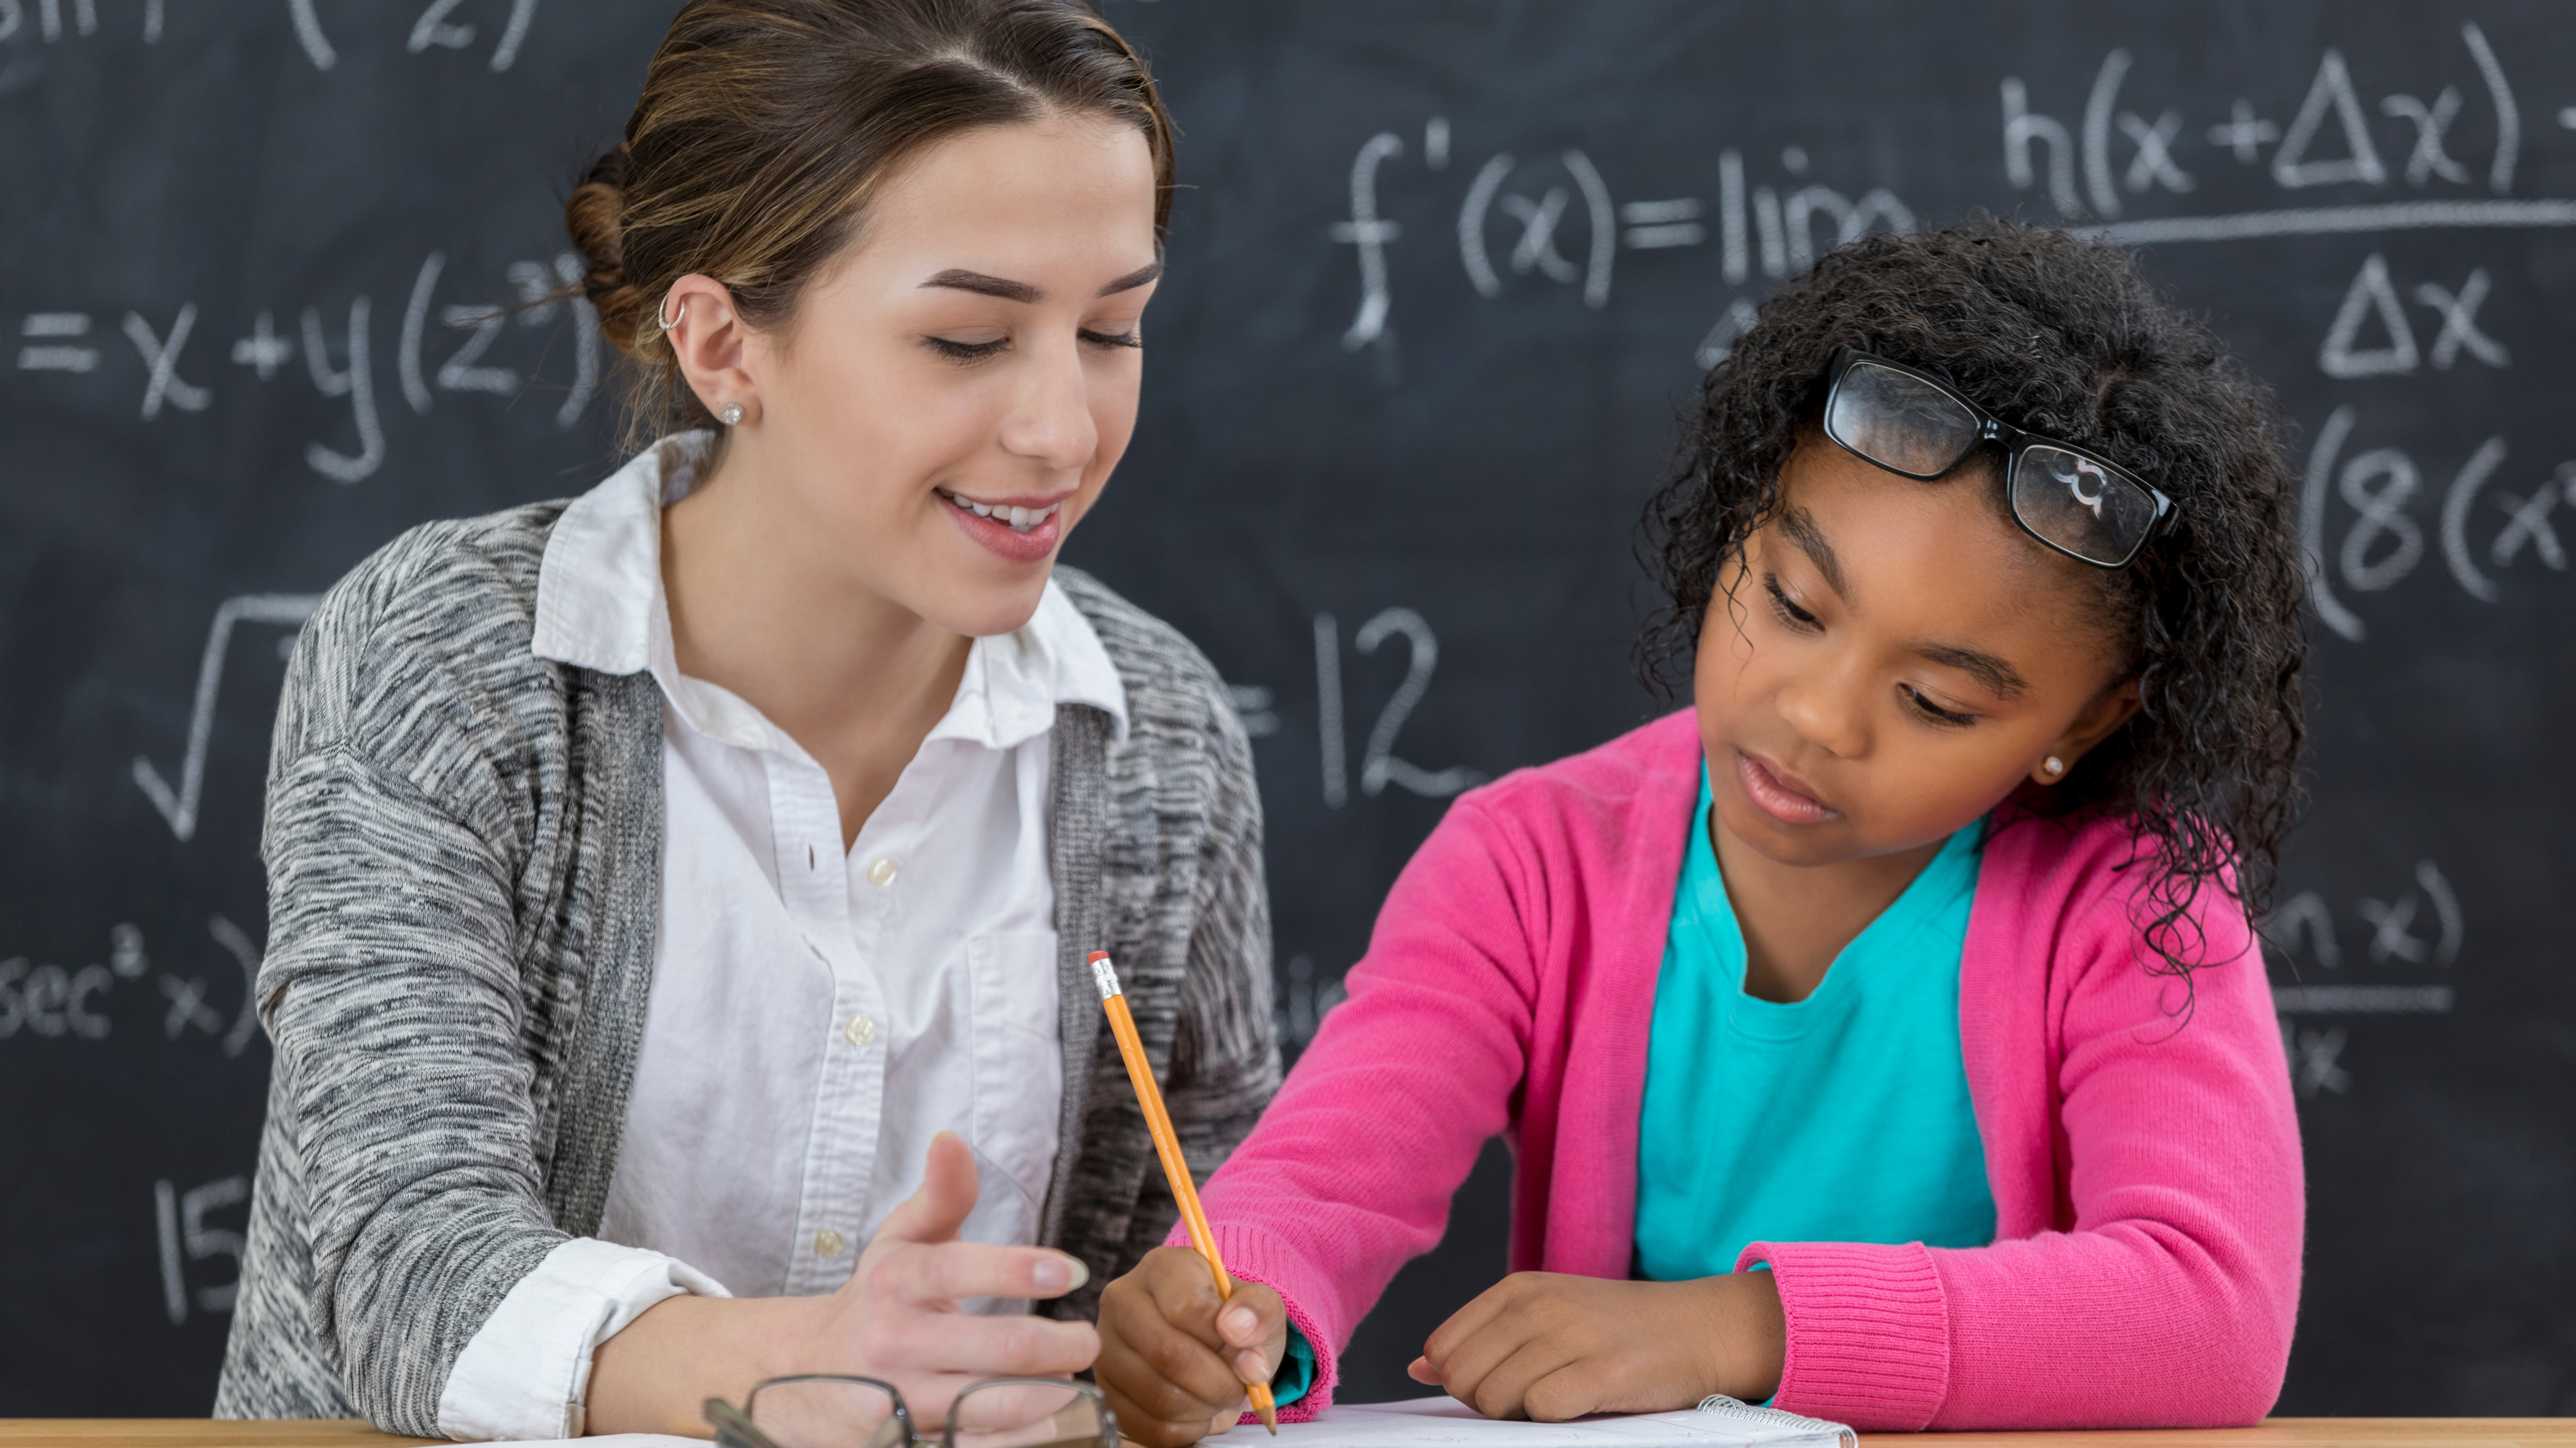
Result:
M1486 1417L1564 1422L1708 1394L1762 1402L1780 1391L1785 1350L1767 1270L1692 1283L1512 1273L1443 1322L1406 1373Z

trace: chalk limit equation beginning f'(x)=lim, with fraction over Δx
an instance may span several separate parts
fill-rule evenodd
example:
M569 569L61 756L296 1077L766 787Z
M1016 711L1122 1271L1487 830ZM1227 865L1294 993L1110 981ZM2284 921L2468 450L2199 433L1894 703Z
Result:
M2195 116L2190 100L2138 103L2136 57L2125 46L2102 57L2081 111L2050 113L2043 103L2056 103L2053 98L2035 98L2025 77L2007 75L1996 85L2004 180L2014 193L2045 198L2061 222L2128 245L2429 227L2576 227L2571 198L2512 196L2524 152L2522 100L2476 23L2460 26L2458 46L2458 82L2375 95L2357 85L2344 54L2329 46L2295 103L2280 95L2259 106L2239 95L2226 103L2223 116L2205 106ZM2421 59L2439 57L2416 57ZM2470 155L2460 142L2460 121L2470 113L2481 121L2478 134L2491 137L2483 155ZM2555 124L2576 129L2576 106L2561 108ZM1386 216L1388 167L1419 157L1419 173L1443 173L1453 144L1445 116L1425 121L1419 139L1399 131L1368 137L1347 175L1350 216L1324 232L1358 258L1360 296L1342 330L1342 348L1376 348L1388 381L1396 335L1394 247L1443 245L1406 237ZM1607 167L1582 147L1494 152L1458 191L1453 250L1461 276L1484 299L1502 299L1528 278L1579 291L1584 307L1602 309L1623 252L1705 247L1716 255L1718 278L1739 289L1754 276L1795 276L1824 250L1873 229L1917 229L1914 206L1896 191L1850 178L1829 183L1832 178L1814 175L1806 147L1780 147L1775 170L1765 170L1770 157L1757 157L1765 167L1752 167L1741 147L1710 147L1710 155L1713 196L1623 201L1613 193ZM2318 186L2367 186L2401 198L2202 216L2128 214L2154 198L2200 193L2208 167L2254 170L2285 198ZM2012 198L1999 201L2012 209ZM2375 255L2347 289L2318 348L2318 366L2336 379L2504 368L2509 348L2478 322L2491 286L2483 268L2465 278L2401 283ZM2432 312L2416 312L2429 343L2419 343L2411 309ZM1741 294L1721 304L1695 348L1698 366L1723 361L1752 317L1754 307ZM2365 330L2378 338L2365 340Z

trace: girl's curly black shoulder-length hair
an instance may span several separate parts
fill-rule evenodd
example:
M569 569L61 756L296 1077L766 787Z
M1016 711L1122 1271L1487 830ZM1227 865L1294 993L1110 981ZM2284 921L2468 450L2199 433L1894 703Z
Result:
M2177 528L2130 567L2084 569L2138 680L2138 716L2063 783L2014 801L2038 817L2128 819L2151 871L2141 925L2161 964L2148 969L2182 979L2187 1013L2190 971L2205 964L2192 902L2218 886L2259 912L2300 799L2306 580L2272 389L2107 242L1978 214L1834 250L1710 368L1674 472L1646 505L1641 557L1664 598L1638 665L1656 691L1687 678L1723 567L1780 510L1780 464L1821 435L1834 348L1942 376L2179 505ZM2002 487L1986 487L2004 510Z

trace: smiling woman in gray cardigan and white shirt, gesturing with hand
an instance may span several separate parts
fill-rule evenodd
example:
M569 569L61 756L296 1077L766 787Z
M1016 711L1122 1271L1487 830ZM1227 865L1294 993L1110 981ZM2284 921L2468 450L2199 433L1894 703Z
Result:
M1090 1366L1175 1208L1084 956L1203 1172L1278 1085L1242 727L1054 569L1170 196L1082 0L680 10L569 198L659 441L404 533L289 670L222 1415L703 1435L840 1373L927 1427Z

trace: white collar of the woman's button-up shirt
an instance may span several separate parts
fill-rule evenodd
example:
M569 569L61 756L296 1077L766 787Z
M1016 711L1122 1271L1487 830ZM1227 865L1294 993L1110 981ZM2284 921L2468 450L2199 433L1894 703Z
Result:
M662 508L688 497L711 433L680 433L644 448L554 520L536 572L533 652L574 667L652 672L672 711L701 734L755 750L801 752L726 688L680 672L662 593ZM1015 747L1056 721L1059 703L1090 703L1126 739L1126 683L1090 618L1056 580L1012 634L976 639L966 675L930 739Z

